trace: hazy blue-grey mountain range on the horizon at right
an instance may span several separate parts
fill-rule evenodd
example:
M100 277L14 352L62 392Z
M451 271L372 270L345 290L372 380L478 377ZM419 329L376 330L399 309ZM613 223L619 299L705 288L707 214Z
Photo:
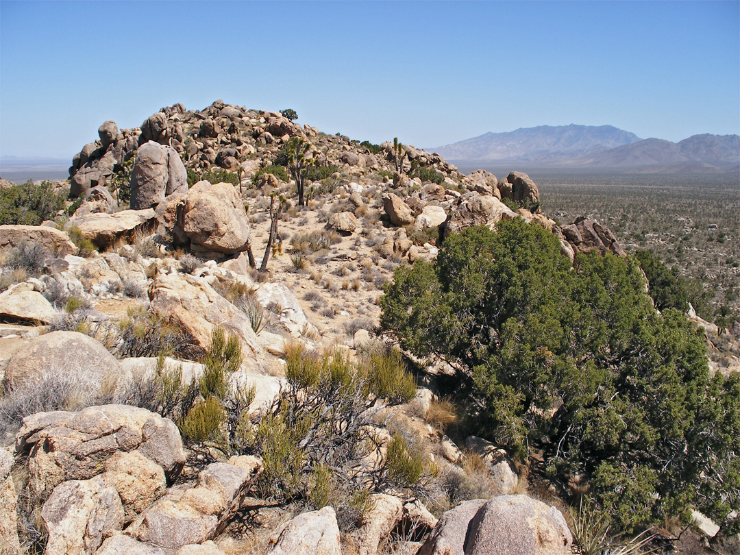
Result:
M552 169L617 172L727 172L740 168L739 135L693 135L678 143L641 139L610 125L542 125L504 133L485 133L443 147L453 163L526 165Z

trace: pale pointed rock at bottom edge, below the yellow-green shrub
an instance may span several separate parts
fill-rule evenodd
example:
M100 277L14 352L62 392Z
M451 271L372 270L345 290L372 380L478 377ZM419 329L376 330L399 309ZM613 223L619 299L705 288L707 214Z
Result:
M292 519L269 551L270 555L341 555L334 509L299 514Z

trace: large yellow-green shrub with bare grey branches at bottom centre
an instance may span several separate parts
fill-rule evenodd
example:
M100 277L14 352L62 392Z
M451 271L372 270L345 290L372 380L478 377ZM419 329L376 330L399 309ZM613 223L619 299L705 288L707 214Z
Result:
M377 452L371 378L340 351L311 354L291 343L285 359L287 384L246 441L246 452L263 457L258 488L275 499L332 505L349 530L369 508L369 485L390 487L386 468L357 471Z

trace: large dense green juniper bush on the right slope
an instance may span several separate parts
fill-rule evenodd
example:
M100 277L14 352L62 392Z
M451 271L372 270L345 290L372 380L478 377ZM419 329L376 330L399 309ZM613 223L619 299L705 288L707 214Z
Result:
M656 312L643 284L635 261L610 253L571 269L554 235L517 218L400 266L381 328L468 369L480 434L522 454L536 445L556 479L591 477L623 530L693 506L730 532L739 380L710 378L704 338L680 312Z

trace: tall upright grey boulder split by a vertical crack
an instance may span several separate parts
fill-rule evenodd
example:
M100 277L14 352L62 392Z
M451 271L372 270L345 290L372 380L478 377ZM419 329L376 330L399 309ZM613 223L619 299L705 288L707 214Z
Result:
M136 152L130 187L132 209L153 208L169 195L187 192L187 170L175 149L149 141Z

